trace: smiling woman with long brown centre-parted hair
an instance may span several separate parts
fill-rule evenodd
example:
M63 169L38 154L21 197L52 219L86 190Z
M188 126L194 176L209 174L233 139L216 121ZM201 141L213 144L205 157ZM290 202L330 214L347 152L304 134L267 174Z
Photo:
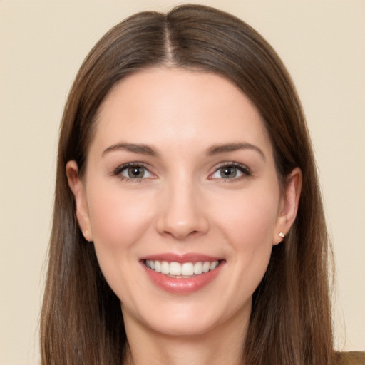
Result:
M204 6L131 16L66 103L43 364L343 361L328 245L301 106L267 42Z

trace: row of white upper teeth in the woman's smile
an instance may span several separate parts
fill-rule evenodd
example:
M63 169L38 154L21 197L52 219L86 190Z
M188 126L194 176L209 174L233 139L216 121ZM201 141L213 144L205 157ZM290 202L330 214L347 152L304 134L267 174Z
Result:
M154 270L155 272L161 272L161 274L167 274L174 277L192 277L192 275L200 275L205 272L214 270L218 266L218 261L200 261L195 262L167 262L158 260L145 260L145 265Z

